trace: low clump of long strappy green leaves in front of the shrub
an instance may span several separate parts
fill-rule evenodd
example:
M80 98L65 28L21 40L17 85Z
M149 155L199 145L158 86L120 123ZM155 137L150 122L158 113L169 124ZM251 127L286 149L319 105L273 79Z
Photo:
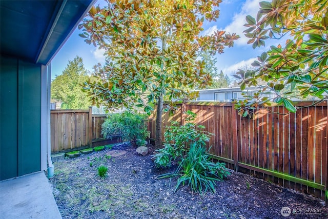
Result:
M214 163L206 148L194 143L183 157L173 173L163 174L159 178L178 177L175 191L179 186L187 184L192 192L205 194L208 190L215 193L215 182L222 181L230 172L224 163Z

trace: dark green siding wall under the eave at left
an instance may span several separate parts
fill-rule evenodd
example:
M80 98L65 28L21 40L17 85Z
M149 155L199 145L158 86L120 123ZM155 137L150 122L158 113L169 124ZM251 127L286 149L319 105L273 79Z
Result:
M41 66L1 56L0 180L40 170Z

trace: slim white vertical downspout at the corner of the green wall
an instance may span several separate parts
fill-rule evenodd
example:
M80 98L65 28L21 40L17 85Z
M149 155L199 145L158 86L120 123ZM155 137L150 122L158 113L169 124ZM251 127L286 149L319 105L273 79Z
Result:
M48 178L53 177L54 166L51 160L51 130L50 130L50 92L51 92L51 62L47 71L47 160L48 160Z

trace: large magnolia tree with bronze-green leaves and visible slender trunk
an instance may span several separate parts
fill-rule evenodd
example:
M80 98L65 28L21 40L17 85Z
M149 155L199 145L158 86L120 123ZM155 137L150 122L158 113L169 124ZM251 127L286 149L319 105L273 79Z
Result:
M112 0L92 7L79 25L85 31L80 36L107 56L97 81L84 84L92 102L142 107L148 114L156 104L155 145L161 146L163 98L186 98L189 90L206 86L211 76L199 53L222 53L239 37L224 31L199 36L204 20L218 18L220 2Z

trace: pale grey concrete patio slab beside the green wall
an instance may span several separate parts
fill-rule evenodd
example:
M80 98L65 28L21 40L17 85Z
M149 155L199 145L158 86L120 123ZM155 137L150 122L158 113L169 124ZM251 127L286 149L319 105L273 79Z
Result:
M61 218L44 172L0 182L0 218Z

